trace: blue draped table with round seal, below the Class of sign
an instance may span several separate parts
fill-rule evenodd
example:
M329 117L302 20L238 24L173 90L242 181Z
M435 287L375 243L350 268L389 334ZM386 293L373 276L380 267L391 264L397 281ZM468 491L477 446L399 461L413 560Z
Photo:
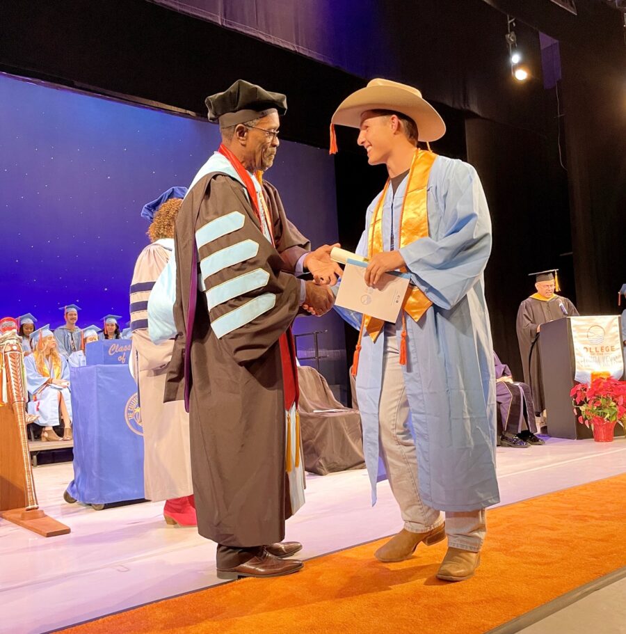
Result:
M128 365L70 369L74 480L67 493L84 504L143 499L143 429Z

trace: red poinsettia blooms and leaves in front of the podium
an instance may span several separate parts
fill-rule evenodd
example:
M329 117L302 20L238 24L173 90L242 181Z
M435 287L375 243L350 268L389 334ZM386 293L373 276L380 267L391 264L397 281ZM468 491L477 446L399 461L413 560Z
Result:
M593 379L589 385L578 383L570 392L578 422L593 429L594 425L615 425L626 429L626 381L613 377Z

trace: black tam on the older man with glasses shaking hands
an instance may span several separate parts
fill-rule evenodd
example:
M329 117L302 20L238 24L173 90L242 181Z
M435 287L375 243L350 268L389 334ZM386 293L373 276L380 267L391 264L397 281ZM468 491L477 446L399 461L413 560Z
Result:
M280 116L287 112L287 97L282 93L270 93L244 79L237 79L223 93L210 95L204 103L209 109L209 121L219 121L220 127L245 123L272 112Z

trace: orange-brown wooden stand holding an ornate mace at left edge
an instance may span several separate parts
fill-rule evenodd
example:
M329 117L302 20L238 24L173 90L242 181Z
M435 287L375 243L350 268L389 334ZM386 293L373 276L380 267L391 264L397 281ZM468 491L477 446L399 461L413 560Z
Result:
M0 335L0 370L0 517L43 537L67 534L70 528L48 517L37 502L26 434L24 356L16 331Z

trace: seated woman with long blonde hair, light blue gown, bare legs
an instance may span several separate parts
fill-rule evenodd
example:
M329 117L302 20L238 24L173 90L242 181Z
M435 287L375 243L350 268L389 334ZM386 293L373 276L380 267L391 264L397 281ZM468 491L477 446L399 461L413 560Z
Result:
M24 358L26 386L29 390L29 414L38 415L38 425L44 429L42 441L59 441L52 427L63 418L63 440L72 440L72 400L70 399L70 366L59 354L54 333L49 324L31 335L33 354Z

